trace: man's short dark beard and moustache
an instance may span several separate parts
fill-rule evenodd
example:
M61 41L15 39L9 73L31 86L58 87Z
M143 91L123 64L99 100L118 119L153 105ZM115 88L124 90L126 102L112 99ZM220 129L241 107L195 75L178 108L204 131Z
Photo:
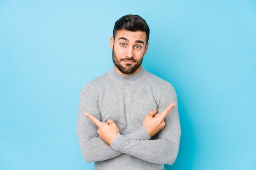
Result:
M142 56L142 58L139 59L139 61L136 61L133 57L117 59L114 47L113 47L113 50L112 50L112 60L113 60L113 62L115 64L115 66L117 67L117 69L120 72L124 73L124 74L132 74L132 73L134 73L141 66L143 57L144 56ZM124 61L124 60L133 61L135 64L133 66L132 66L132 64L126 64L125 66L123 66L123 65L121 65L121 61Z

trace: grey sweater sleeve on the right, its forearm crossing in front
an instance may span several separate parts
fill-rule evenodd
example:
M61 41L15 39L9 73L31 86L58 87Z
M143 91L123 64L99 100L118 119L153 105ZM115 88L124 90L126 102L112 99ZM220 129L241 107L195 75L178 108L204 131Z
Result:
M117 134L111 147L151 163L173 164L180 144L180 120L177 96L170 85L163 90L157 113L162 113L172 102L175 102L176 105L164 119L166 124L164 129L157 133L158 139L137 140Z

